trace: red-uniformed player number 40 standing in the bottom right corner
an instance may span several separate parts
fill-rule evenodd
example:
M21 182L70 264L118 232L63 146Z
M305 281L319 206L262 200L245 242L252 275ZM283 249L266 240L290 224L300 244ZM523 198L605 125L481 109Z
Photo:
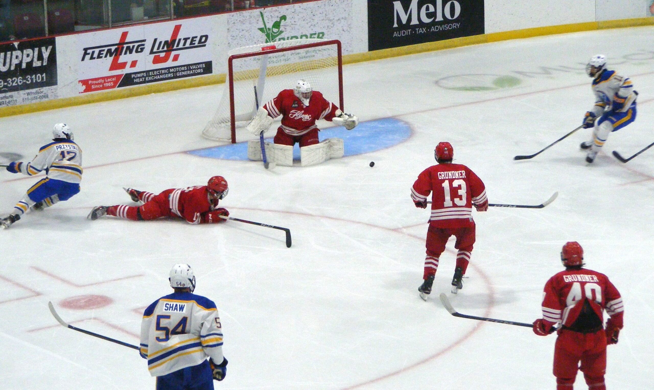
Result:
M561 262L566 270L545 283L543 317L534 321L534 333L547 336L561 324L554 347L557 390L572 390L577 370L589 389L606 390L606 344L617 344L625 314L622 298L606 275L583 268L583 249L576 241L563 245ZM604 310L610 316L606 329Z

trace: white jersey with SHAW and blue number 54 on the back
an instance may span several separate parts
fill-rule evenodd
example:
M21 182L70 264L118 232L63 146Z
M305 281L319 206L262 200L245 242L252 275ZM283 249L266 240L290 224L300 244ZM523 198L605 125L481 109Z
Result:
M204 296L173 293L154 301L141 322L141 356L152 376L222 363L222 326L216 304Z

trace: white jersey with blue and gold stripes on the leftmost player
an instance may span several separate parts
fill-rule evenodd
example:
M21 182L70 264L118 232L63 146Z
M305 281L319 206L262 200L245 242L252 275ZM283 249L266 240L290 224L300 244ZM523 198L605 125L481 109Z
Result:
M70 139L61 139L44 145L39 154L25 164L18 162L16 169L27 176L42 171L50 179L80 183L82 181L82 149Z

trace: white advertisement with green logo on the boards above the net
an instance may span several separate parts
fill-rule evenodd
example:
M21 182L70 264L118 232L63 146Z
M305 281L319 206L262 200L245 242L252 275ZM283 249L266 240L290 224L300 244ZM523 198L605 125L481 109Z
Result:
M338 39L343 54L351 54L351 10L352 0L324 0L232 12L227 15L226 52L253 44L318 38Z

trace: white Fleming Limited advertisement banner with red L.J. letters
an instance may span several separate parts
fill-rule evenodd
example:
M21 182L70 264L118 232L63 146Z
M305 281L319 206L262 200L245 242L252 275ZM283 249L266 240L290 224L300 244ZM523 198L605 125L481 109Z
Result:
M210 75L207 18L97 31L78 36L78 92Z

